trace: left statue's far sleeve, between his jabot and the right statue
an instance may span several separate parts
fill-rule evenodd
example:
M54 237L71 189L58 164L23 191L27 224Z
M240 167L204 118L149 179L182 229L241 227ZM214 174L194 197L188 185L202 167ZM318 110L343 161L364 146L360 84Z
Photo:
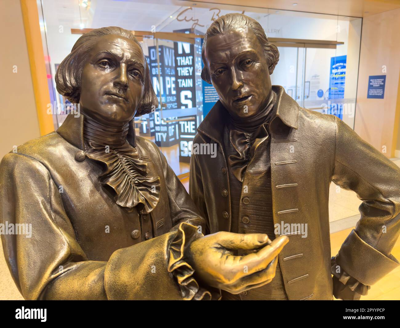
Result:
M158 147L157 147L158 149ZM182 182L168 164L164 154L158 149L160 154L165 183L168 191L168 201L170 205L172 230L175 231L181 222L201 226L204 230L206 224L204 218L190 198Z

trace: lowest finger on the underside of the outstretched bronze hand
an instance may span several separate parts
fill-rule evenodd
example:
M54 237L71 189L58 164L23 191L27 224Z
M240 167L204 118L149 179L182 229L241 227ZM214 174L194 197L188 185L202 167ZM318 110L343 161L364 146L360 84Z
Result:
M249 276L245 276L239 280L237 280L234 284L228 286L231 294L239 294L244 292L245 290L249 290L252 288L257 288L260 286L264 286L271 282L271 280L275 277L276 266L278 265L278 257L274 258L268 264L267 268L261 271L258 271Z

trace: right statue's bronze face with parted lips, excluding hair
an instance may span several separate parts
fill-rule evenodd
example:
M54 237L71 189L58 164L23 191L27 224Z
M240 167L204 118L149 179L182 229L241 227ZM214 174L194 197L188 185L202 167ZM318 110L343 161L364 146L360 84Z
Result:
M271 91L268 62L249 28L230 30L206 41L211 83L230 115L246 118L267 105Z

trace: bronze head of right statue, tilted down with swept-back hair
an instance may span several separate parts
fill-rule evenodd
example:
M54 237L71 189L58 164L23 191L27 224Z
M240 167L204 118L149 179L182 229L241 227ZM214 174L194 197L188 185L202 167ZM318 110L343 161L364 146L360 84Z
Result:
M279 52L256 20L242 14L215 20L204 36L202 59L202 79L212 83L230 115L252 117L264 109Z

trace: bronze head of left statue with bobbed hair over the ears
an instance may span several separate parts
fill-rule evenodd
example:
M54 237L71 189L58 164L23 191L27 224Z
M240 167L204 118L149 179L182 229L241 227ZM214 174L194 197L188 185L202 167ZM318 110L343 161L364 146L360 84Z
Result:
M56 85L82 113L111 126L158 107L142 47L120 27L83 34L60 64Z

